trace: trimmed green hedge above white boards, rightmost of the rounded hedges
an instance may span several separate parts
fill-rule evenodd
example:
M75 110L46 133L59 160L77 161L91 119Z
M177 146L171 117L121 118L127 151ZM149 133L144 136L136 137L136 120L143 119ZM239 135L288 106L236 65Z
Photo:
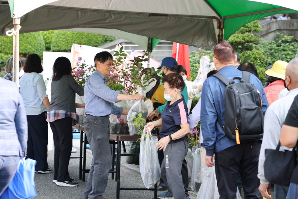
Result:
M70 52L72 44L84 44L98 47L114 40L115 38L111 36L55 30L52 37L51 51Z

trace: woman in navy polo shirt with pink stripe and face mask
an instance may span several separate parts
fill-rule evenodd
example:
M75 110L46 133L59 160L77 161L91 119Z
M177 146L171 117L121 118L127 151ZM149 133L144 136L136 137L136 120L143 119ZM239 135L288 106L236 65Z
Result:
M162 118L149 122L145 128L151 131L162 125L157 148L164 151L162 167L166 170L167 178L163 180L170 187L168 193L173 192L172 197L187 199L189 195L185 194L181 175L182 162L188 150L187 133L190 131L187 105L181 95L185 84L182 76L177 73L164 76L162 82L167 105L161 114Z

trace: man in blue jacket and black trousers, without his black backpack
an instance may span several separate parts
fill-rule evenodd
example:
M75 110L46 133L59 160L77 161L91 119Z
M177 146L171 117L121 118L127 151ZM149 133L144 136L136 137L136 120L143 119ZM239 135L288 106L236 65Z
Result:
M242 77L242 72L234 67L237 56L234 48L222 41L214 49L213 62L218 70L226 78ZM235 80L238 83L239 80ZM268 107L267 98L260 80L250 74L252 83L260 92L263 105L263 113ZM216 180L220 199L236 198L237 178L240 171L245 198L262 198L258 187L258 160L261 141L236 144L236 141L226 137L221 129L220 122L224 124L224 91L226 85L216 77L205 80L201 99L201 130L204 138L203 146L206 149L206 165L215 165ZM242 121L250 122L250 121ZM215 162L213 163L213 155Z

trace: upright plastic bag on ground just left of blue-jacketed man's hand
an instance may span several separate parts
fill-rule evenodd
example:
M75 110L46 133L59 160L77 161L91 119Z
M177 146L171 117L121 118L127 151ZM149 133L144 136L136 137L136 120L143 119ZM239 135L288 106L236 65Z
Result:
M197 192L201 186L201 149L192 149L193 155L193 170L190 180L190 188Z

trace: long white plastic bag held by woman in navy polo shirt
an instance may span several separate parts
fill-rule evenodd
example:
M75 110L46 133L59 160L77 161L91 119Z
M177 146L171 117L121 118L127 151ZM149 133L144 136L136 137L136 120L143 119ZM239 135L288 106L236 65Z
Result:
M140 173L147 189L154 186L160 179L157 142L158 138L152 136L151 132L146 132L144 128L140 145Z

